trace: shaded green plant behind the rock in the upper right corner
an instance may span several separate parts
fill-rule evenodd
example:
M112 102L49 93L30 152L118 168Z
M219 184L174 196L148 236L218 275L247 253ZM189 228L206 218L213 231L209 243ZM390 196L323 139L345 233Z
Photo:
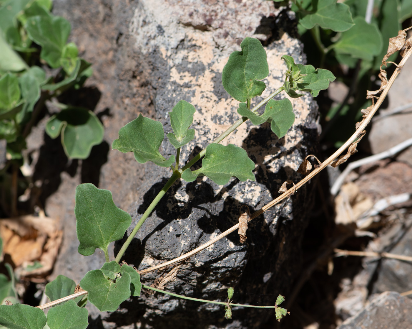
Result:
M410 0L270 0L290 3L296 13L297 31L308 63L330 69L348 86L344 100L320 108L322 138L340 147L361 118L366 90L375 89L381 60L389 38L398 35L402 23L412 17ZM314 47L314 45L316 47ZM387 61L396 60L394 52ZM390 65L390 64L388 64ZM333 129L332 129L333 128Z

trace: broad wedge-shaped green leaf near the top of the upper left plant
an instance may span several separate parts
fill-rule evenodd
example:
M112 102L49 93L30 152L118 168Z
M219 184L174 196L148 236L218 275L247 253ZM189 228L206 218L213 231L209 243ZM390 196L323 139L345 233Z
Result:
M59 16L33 16L27 19L25 28L30 39L42 46L40 57L52 68L58 68L70 34L69 21Z

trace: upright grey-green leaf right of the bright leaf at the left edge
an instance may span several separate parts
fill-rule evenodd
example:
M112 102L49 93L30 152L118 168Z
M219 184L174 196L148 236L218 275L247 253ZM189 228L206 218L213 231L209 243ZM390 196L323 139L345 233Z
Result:
M17 114L17 122L22 122L40 98L40 85L46 79L46 72L38 66L32 66L19 77L21 96L25 100L23 109ZM26 118L27 120L27 118Z

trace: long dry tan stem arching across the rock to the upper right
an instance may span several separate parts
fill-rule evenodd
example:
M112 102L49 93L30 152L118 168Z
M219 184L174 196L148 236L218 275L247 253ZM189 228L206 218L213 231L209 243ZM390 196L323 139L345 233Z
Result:
M326 166L328 166L330 163L332 163L332 161L334 161L340 154L342 154L345 149L347 147L349 147L357 138L358 136L363 132L363 130L365 129L365 127L368 125L368 123L370 123L370 121L372 120L372 116L376 113L376 111L379 109L380 105L382 104L382 102L384 101L386 95L389 92L389 89L392 87L393 82L395 81L395 79L398 77L402 67L405 65L406 61L409 59L409 57L412 55L412 38L409 38L408 40L406 40L405 45L408 47L407 51L404 54L403 59L400 61L399 66L395 69L395 71L393 72L391 78L389 79L386 87L382 90L382 94L381 96L377 99L377 102L370 108L370 111L368 112L367 115L365 115L364 119L357 125L356 131L355 133L353 133L353 135L341 146L339 147L339 149L337 151L335 151L335 153L333 153L328 159L326 159L325 161L323 161L317 168L315 168L311 173L309 173L305 178L303 178L300 182L298 182L294 187L288 189L286 192L284 192L283 194L281 194L280 196L278 196L276 199L272 200L271 202L269 202L267 205L263 206L262 208L260 208L258 211L255 211L251 216L250 216L250 220L253 220L254 218L258 217L259 215L261 215L262 213L264 213L265 211L267 211L269 208L272 208L274 205L278 204L279 202L281 202L282 200L286 199L288 196L293 195L295 193L295 191L297 189L299 189L300 187L302 187L304 184L306 184L309 180L311 180L311 178L314 178L314 176L316 176L318 173L321 172L321 170L325 169ZM185 260L187 258L192 257L193 255L199 253L200 251L206 249L208 246L211 246L212 244L214 244L216 241L222 239L223 237L227 236L228 234L234 232L235 230L239 229L239 223L232 226L231 228L229 228L229 230L226 230L225 232L219 234L217 237L215 237L214 239L206 242L205 244L202 244L201 246L197 247L196 249L193 249L192 251L185 253L175 259L169 260L165 263L153 266L153 267L149 267L145 270L140 270L138 271L140 273L140 275L148 273L148 272L152 272L155 270L159 270L160 268L166 267L166 266L170 266L176 263L181 262L182 260ZM50 306L59 304L63 301L68 301L72 298L75 298L77 296L82 296L85 295L87 293L87 291L80 291L78 293L75 293L73 295L58 299L56 301L52 301L50 303L44 304L44 305L40 305L37 306L37 308L40 309L44 309L44 308L48 308Z

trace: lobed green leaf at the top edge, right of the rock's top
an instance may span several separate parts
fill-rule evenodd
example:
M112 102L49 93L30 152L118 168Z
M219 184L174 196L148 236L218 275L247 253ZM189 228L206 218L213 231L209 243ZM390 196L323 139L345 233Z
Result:
M349 6L337 3L336 0L318 0L312 2L309 7L311 14L300 14L299 23L310 30L316 24L324 29L336 32L349 30L353 26L352 15Z

